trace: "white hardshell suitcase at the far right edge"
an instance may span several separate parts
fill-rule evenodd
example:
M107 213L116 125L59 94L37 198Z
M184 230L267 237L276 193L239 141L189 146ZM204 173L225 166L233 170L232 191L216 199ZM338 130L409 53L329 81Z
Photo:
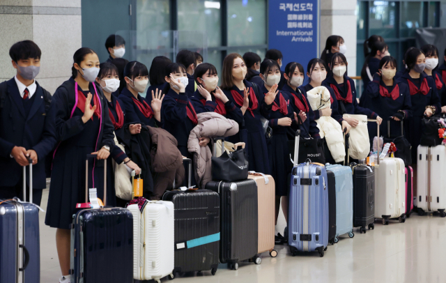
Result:
M446 146L417 148L417 208L418 215L426 212L446 212Z

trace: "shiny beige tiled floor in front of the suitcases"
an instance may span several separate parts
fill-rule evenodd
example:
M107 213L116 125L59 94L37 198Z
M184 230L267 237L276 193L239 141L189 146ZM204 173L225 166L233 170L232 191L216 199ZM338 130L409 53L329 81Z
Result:
M47 197L45 190L43 209ZM46 227L44 219L45 213L41 213L41 282L56 283L61 276L56 230ZM279 224L284 227L283 217ZM274 259L268 253L262 254L259 266L241 263L238 270L228 270L221 264L215 276L208 271L183 274L177 275L174 282L446 282L446 218L438 216L413 214L406 223L391 221L386 227L376 222L375 230L367 234L355 231L354 238L341 236L339 243L329 245L323 258L317 253L291 257L286 245L278 245L276 250L279 254Z

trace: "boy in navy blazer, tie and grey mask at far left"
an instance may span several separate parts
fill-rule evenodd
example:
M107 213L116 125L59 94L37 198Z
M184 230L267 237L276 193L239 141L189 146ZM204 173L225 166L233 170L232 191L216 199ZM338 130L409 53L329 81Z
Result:
M9 55L16 75L0 84L0 199L29 201L29 188L27 198L23 196L22 166L31 158L33 203L40 205L46 188L45 160L56 145L56 102L35 79L41 56L36 43L15 43Z

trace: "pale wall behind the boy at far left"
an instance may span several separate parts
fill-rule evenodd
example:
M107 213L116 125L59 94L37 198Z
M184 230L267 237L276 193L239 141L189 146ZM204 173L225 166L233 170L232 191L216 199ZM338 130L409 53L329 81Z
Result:
M72 55L82 47L80 0L0 1L0 82L15 75L10 47L33 40L42 51L37 81L50 93L71 75Z

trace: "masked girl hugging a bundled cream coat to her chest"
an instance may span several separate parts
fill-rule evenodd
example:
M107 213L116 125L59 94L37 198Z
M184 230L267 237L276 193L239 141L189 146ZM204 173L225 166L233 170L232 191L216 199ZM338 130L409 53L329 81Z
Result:
M299 64L300 68L303 67ZM297 69L295 69L297 70ZM305 94L307 97L307 91L314 89L315 87L322 86L322 82L327 76L327 65L322 59L314 58L308 62L307 66L307 76L309 77L309 83L305 86L300 86L300 91ZM303 72L302 72L302 81L303 81ZM321 109L318 111L314 111L314 120L316 121L321 116L332 116L334 120L338 121L341 124L342 130L346 129L347 132L350 131L351 126L344 121L342 115L338 111L338 103L336 95L334 94L333 89L330 86L325 86L330 92L330 109Z

